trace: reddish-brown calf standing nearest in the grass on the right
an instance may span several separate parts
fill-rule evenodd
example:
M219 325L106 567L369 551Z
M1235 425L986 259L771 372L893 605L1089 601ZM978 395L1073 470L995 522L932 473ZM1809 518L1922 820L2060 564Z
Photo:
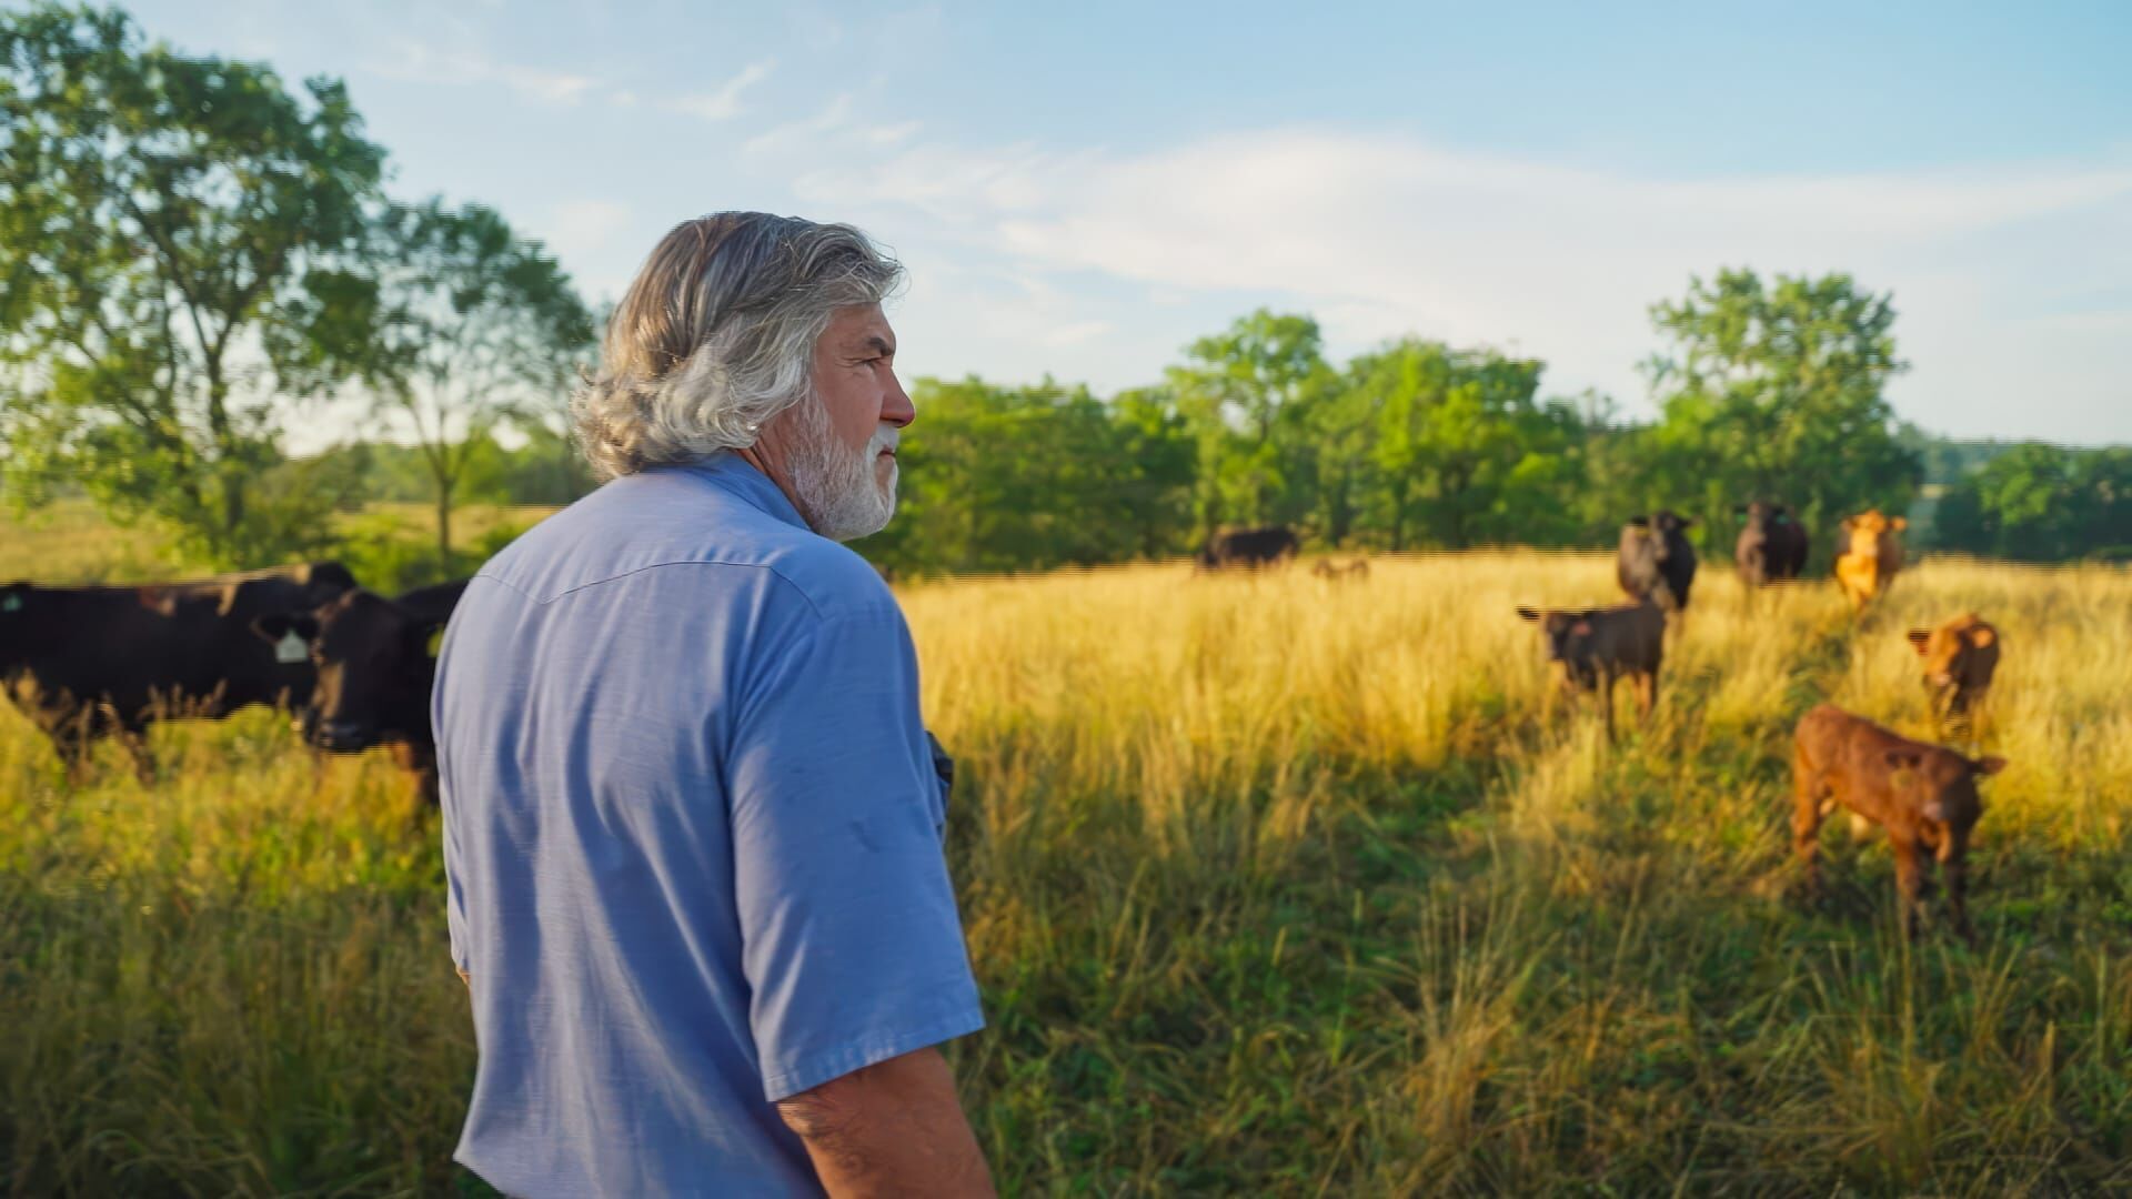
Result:
M1887 832L1904 934L1917 937L1925 875L1938 862L1955 932L1974 941L1966 900L1970 832L1985 811L1976 781L2004 768L2004 757L1964 757L1819 704L1799 719L1791 749L1791 849L1806 864L1808 885L1821 888L1821 819L1842 804L1853 828L1878 824Z

